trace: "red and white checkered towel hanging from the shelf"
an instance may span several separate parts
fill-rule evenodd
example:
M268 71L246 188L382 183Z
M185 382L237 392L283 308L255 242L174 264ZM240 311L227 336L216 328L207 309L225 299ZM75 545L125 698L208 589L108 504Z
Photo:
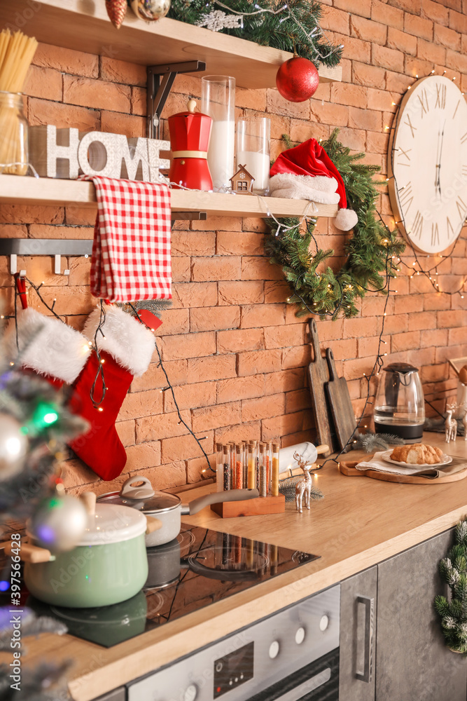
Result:
M170 299L170 190L165 184L84 175L97 195L91 293L111 302Z

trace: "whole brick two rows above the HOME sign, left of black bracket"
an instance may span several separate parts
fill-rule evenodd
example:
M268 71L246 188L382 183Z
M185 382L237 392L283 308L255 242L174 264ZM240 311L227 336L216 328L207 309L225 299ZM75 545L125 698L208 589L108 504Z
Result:
M90 78L63 77L63 99L95 109L130 112L130 88Z

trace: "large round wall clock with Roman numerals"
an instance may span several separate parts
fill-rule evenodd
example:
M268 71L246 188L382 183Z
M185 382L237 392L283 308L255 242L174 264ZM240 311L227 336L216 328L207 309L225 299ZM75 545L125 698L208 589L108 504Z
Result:
M467 104L453 81L429 76L407 91L388 173L393 214L412 245L430 254L452 245L467 217Z

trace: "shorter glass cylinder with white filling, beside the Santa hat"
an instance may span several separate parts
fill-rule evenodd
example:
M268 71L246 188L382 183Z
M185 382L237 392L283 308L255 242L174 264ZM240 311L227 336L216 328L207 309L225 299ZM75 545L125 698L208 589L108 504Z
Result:
M237 169L243 165L254 178L253 192L269 192L271 120L267 117L237 121Z

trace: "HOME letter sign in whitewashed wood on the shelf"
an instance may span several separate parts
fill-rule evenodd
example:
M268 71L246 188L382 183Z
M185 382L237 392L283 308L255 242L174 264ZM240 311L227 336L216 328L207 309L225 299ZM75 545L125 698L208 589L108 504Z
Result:
M78 133L53 125L29 128L29 158L39 175L73 179L78 175L167 182L160 168L170 161L160 158L170 142L158 139L128 139L105 132Z

